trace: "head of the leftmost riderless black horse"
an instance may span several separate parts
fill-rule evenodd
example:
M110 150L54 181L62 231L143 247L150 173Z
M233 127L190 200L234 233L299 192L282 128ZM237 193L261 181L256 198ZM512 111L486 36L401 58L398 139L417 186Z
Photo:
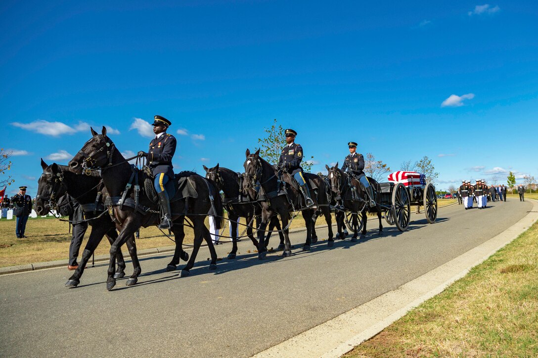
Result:
M41 168L43 174L38 180L35 209L38 215L44 216L51 211L58 198L66 194L67 189L63 185L63 173L58 164L47 165L41 159Z

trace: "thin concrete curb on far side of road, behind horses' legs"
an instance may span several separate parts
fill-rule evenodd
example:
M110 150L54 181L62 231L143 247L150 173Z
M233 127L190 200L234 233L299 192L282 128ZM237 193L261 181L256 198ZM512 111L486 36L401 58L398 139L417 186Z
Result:
M455 204L457 204L457 202L449 204L449 205L441 206L439 209L443 209L444 207L449 207ZM377 217L368 217L368 220L374 220L374 219L377 219ZM327 224L317 225L316 229L321 229L325 227L327 227ZM334 224L333 227L336 228L336 224ZM291 234L296 233L296 232L301 232L301 231L306 231L306 228L298 227L298 228L289 229L289 233ZM207 246L207 245L202 245L202 247L203 246ZM186 248L186 250L188 249L189 248ZM154 247L154 248L138 250L137 254L138 256L153 255L153 254L173 252L174 250L175 250L175 246ZM109 259L110 259L110 255L97 255L95 256L94 260L95 262L108 262ZM20 273L20 272L25 272L25 271L35 271L35 270L49 269L49 268L56 268L56 267L65 267L68 264L69 264L69 260L55 260L55 261L27 263L27 264L22 264L22 265L17 265L17 266L6 266L6 267L0 267L0 275L15 274L15 273Z

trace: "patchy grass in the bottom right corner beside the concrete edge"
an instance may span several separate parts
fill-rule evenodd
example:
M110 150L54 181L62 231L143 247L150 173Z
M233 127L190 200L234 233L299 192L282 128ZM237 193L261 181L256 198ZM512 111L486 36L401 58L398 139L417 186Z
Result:
M538 356L538 223L345 355L422 356Z

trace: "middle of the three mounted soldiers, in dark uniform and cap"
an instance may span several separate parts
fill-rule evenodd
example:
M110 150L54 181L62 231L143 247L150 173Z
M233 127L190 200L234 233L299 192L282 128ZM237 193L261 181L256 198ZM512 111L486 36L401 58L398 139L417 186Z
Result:
M299 183L302 195L305 197L306 207L310 207L314 205L314 201L310 198L310 191L308 190L308 185L300 166L303 159L303 152L301 145L295 144L297 132L292 129L287 129L284 133L288 145L285 146L280 153L278 167L280 170L287 171L290 175L293 175L297 183Z

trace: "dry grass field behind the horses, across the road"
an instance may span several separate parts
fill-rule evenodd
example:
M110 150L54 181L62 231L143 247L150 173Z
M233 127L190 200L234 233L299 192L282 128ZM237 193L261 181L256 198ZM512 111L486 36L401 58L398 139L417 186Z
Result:
M438 205L441 207L454 202L456 202L455 199L440 199ZM421 212L423 212L423 208ZM245 220L241 219L241 222L245 223ZM323 218L317 220L318 225L322 225L324 222ZM305 221L301 216L298 216L293 220L291 228L304 226ZM86 238L89 237L89 230L86 233ZM244 226L240 226L239 234L243 231ZM184 242L192 242L194 238L192 229L187 228L185 232ZM25 234L28 237L27 239L17 239L15 236L15 220L0 219L0 267L68 259L69 243L71 241L68 223L56 220L53 217L29 219ZM228 228L226 228L224 235L229 235ZM226 241L226 239L223 240ZM82 243L81 253L84 245L86 245L86 240ZM153 226L140 230L140 239L137 240L138 249L171 245L174 245L174 242L165 237L157 227ZM95 253L96 255L108 254L109 249L108 240L104 238ZM124 254L128 255L126 249Z

